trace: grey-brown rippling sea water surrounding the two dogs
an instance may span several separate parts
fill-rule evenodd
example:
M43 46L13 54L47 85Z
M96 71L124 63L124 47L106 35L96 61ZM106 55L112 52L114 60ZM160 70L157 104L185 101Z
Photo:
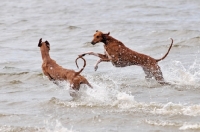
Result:
M15 0L0 4L0 131L2 132L197 132L200 131L200 1ZM103 53L90 44L96 30L129 48L161 58L171 86L147 82L138 66L115 68L86 56L76 98L42 74L40 38L51 58L77 70L77 55ZM81 62L79 62L81 65Z

